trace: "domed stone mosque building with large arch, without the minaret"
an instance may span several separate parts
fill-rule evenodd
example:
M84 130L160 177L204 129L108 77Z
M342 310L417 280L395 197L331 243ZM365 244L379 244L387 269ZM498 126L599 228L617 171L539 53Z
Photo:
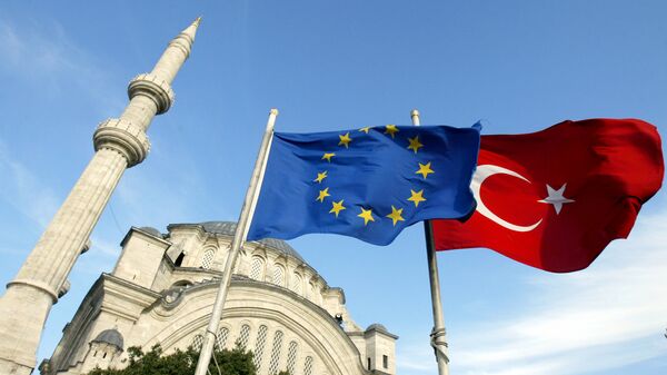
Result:
M235 229L227 221L172 224L167 234L131 228L41 374L122 368L131 346L199 348ZM397 338L380 324L359 327L341 288L287 243L263 239L246 243L237 259L216 347L251 351L259 375L396 374Z

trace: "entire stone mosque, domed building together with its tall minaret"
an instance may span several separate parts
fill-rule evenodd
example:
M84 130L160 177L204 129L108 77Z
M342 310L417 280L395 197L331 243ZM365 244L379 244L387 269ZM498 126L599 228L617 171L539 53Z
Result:
M152 71L135 77L119 118L93 134L94 155L0 297L0 374L30 375L53 304L125 170L142 162L155 116L175 100L171 82L190 56L200 19L173 38ZM166 353L202 345L235 223L172 224L167 233L131 228L113 270L92 285L63 328L42 375L80 375L127 365L128 348L160 344ZM230 273L216 333L218 348L252 351L258 374L396 374L397 336L360 328L330 287L287 243L249 241Z

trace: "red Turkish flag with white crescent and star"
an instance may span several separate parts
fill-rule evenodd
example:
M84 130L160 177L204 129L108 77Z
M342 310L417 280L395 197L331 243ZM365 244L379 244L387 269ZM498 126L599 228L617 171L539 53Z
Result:
M488 247L555 273L588 267L663 181L657 129L636 119L564 121L482 136L466 223L431 220L437 250Z

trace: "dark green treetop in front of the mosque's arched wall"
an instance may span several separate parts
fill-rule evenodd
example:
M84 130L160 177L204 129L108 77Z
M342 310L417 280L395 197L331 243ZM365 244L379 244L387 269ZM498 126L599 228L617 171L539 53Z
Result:
M159 344L147 353L139 347L130 347L128 354L129 364L126 368L94 368L88 375L192 375L199 358L199 353L192 347L162 355ZM216 351L215 359L211 358L209 365L211 374L218 374L217 362L221 375L257 375L257 369L252 364L252 353L242 349L239 345L231 351Z

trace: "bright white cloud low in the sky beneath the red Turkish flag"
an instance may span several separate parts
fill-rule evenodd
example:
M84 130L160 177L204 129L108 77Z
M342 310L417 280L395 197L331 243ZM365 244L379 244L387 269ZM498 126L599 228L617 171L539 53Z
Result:
M524 306L450 337L457 366L470 375L565 375L666 356L666 241L667 213L644 215L589 269L527 280Z

